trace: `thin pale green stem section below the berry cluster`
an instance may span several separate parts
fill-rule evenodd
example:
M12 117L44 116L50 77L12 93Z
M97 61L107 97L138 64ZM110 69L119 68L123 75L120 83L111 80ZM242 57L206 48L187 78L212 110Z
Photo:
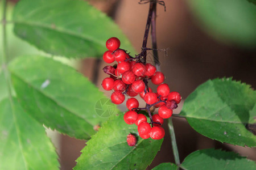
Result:
M174 152L174 159L176 165L180 165L180 158L179 158L179 151L177 150L177 143L176 143L176 138L175 138L175 133L174 133L174 125L172 124L172 118L168 118L168 127L170 130L170 135L171 135L171 141L172 141L172 151Z

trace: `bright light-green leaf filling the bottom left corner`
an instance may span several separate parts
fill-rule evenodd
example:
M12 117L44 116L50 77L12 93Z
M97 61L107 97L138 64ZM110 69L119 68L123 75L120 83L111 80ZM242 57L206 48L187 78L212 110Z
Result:
M58 169L55 148L46 131L18 101L0 102L0 169Z

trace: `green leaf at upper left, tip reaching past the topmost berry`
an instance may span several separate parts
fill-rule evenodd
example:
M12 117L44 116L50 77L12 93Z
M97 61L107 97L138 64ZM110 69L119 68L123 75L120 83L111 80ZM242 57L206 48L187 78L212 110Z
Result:
M14 8L14 32L47 53L101 57L110 37L135 54L121 29L102 12L79 0L22 0Z

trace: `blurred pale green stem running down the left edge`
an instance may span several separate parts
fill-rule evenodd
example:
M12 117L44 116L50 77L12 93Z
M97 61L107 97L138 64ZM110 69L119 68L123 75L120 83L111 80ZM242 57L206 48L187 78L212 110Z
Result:
M13 104L13 97L11 96L11 81L9 78L9 71L7 70L7 39L6 39L6 8L7 8L7 1L3 0L3 18L2 18L2 37L3 37L3 53L2 53L2 69L3 74L5 75L7 90L8 90L8 96L11 104Z

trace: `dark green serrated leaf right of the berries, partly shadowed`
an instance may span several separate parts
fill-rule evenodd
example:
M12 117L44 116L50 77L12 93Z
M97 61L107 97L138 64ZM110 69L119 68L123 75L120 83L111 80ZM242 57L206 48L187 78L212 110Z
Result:
M208 80L185 100L181 116L206 137L240 146L256 146L246 129L255 124L256 92L232 78Z

